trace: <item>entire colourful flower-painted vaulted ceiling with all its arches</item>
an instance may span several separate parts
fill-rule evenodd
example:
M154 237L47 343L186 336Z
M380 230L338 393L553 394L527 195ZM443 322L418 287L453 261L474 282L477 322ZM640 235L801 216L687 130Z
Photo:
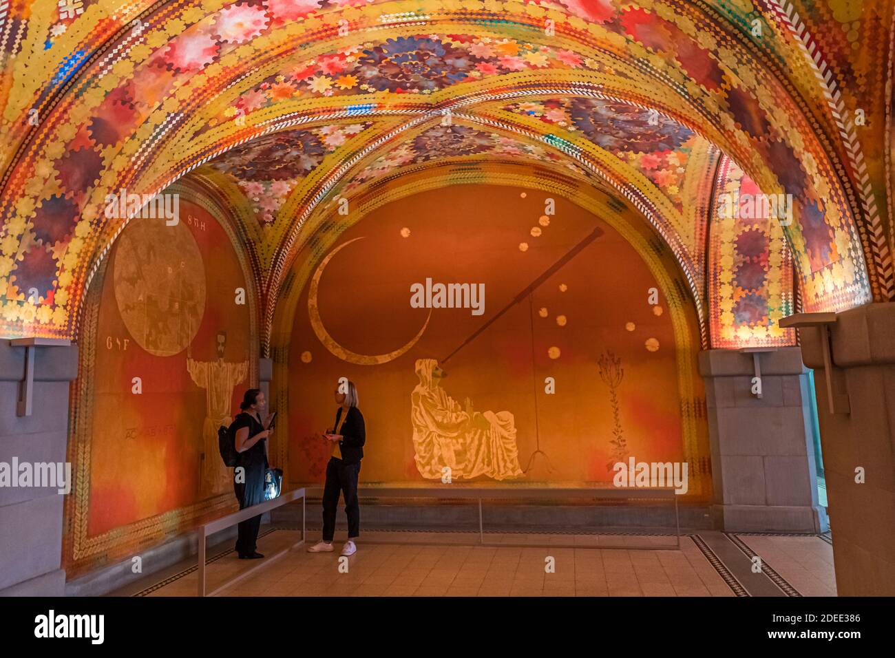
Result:
M127 221L107 195L176 182L234 224L267 345L277 300L362 209L487 180L635 218L703 345L787 344L797 306L895 297L891 5L7 4L0 322L75 337ZM793 221L719 215L757 192L791 194Z

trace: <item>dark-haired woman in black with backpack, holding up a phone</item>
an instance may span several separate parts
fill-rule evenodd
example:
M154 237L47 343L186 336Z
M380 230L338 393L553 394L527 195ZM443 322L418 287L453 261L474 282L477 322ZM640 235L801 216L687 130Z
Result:
M235 434L235 448L239 453L236 468L243 467L243 476L234 474L233 488L239 508L251 508L264 500L264 473L268 468L267 439L273 430L268 429L270 418L261 423L261 412L267 404L260 389L248 389L239 408L243 413L234 418L231 429ZM242 481L242 482L241 482ZM239 524L236 552L240 560L258 560L264 556L255 551L261 515Z

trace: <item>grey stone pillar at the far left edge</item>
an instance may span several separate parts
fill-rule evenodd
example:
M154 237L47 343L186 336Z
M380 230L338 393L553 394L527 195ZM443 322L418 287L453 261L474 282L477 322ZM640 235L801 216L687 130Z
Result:
M25 347L0 340L0 462L65 462L70 383L78 376L76 346L36 346L32 414L16 401ZM63 595L64 495L55 488L0 487L0 595Z

